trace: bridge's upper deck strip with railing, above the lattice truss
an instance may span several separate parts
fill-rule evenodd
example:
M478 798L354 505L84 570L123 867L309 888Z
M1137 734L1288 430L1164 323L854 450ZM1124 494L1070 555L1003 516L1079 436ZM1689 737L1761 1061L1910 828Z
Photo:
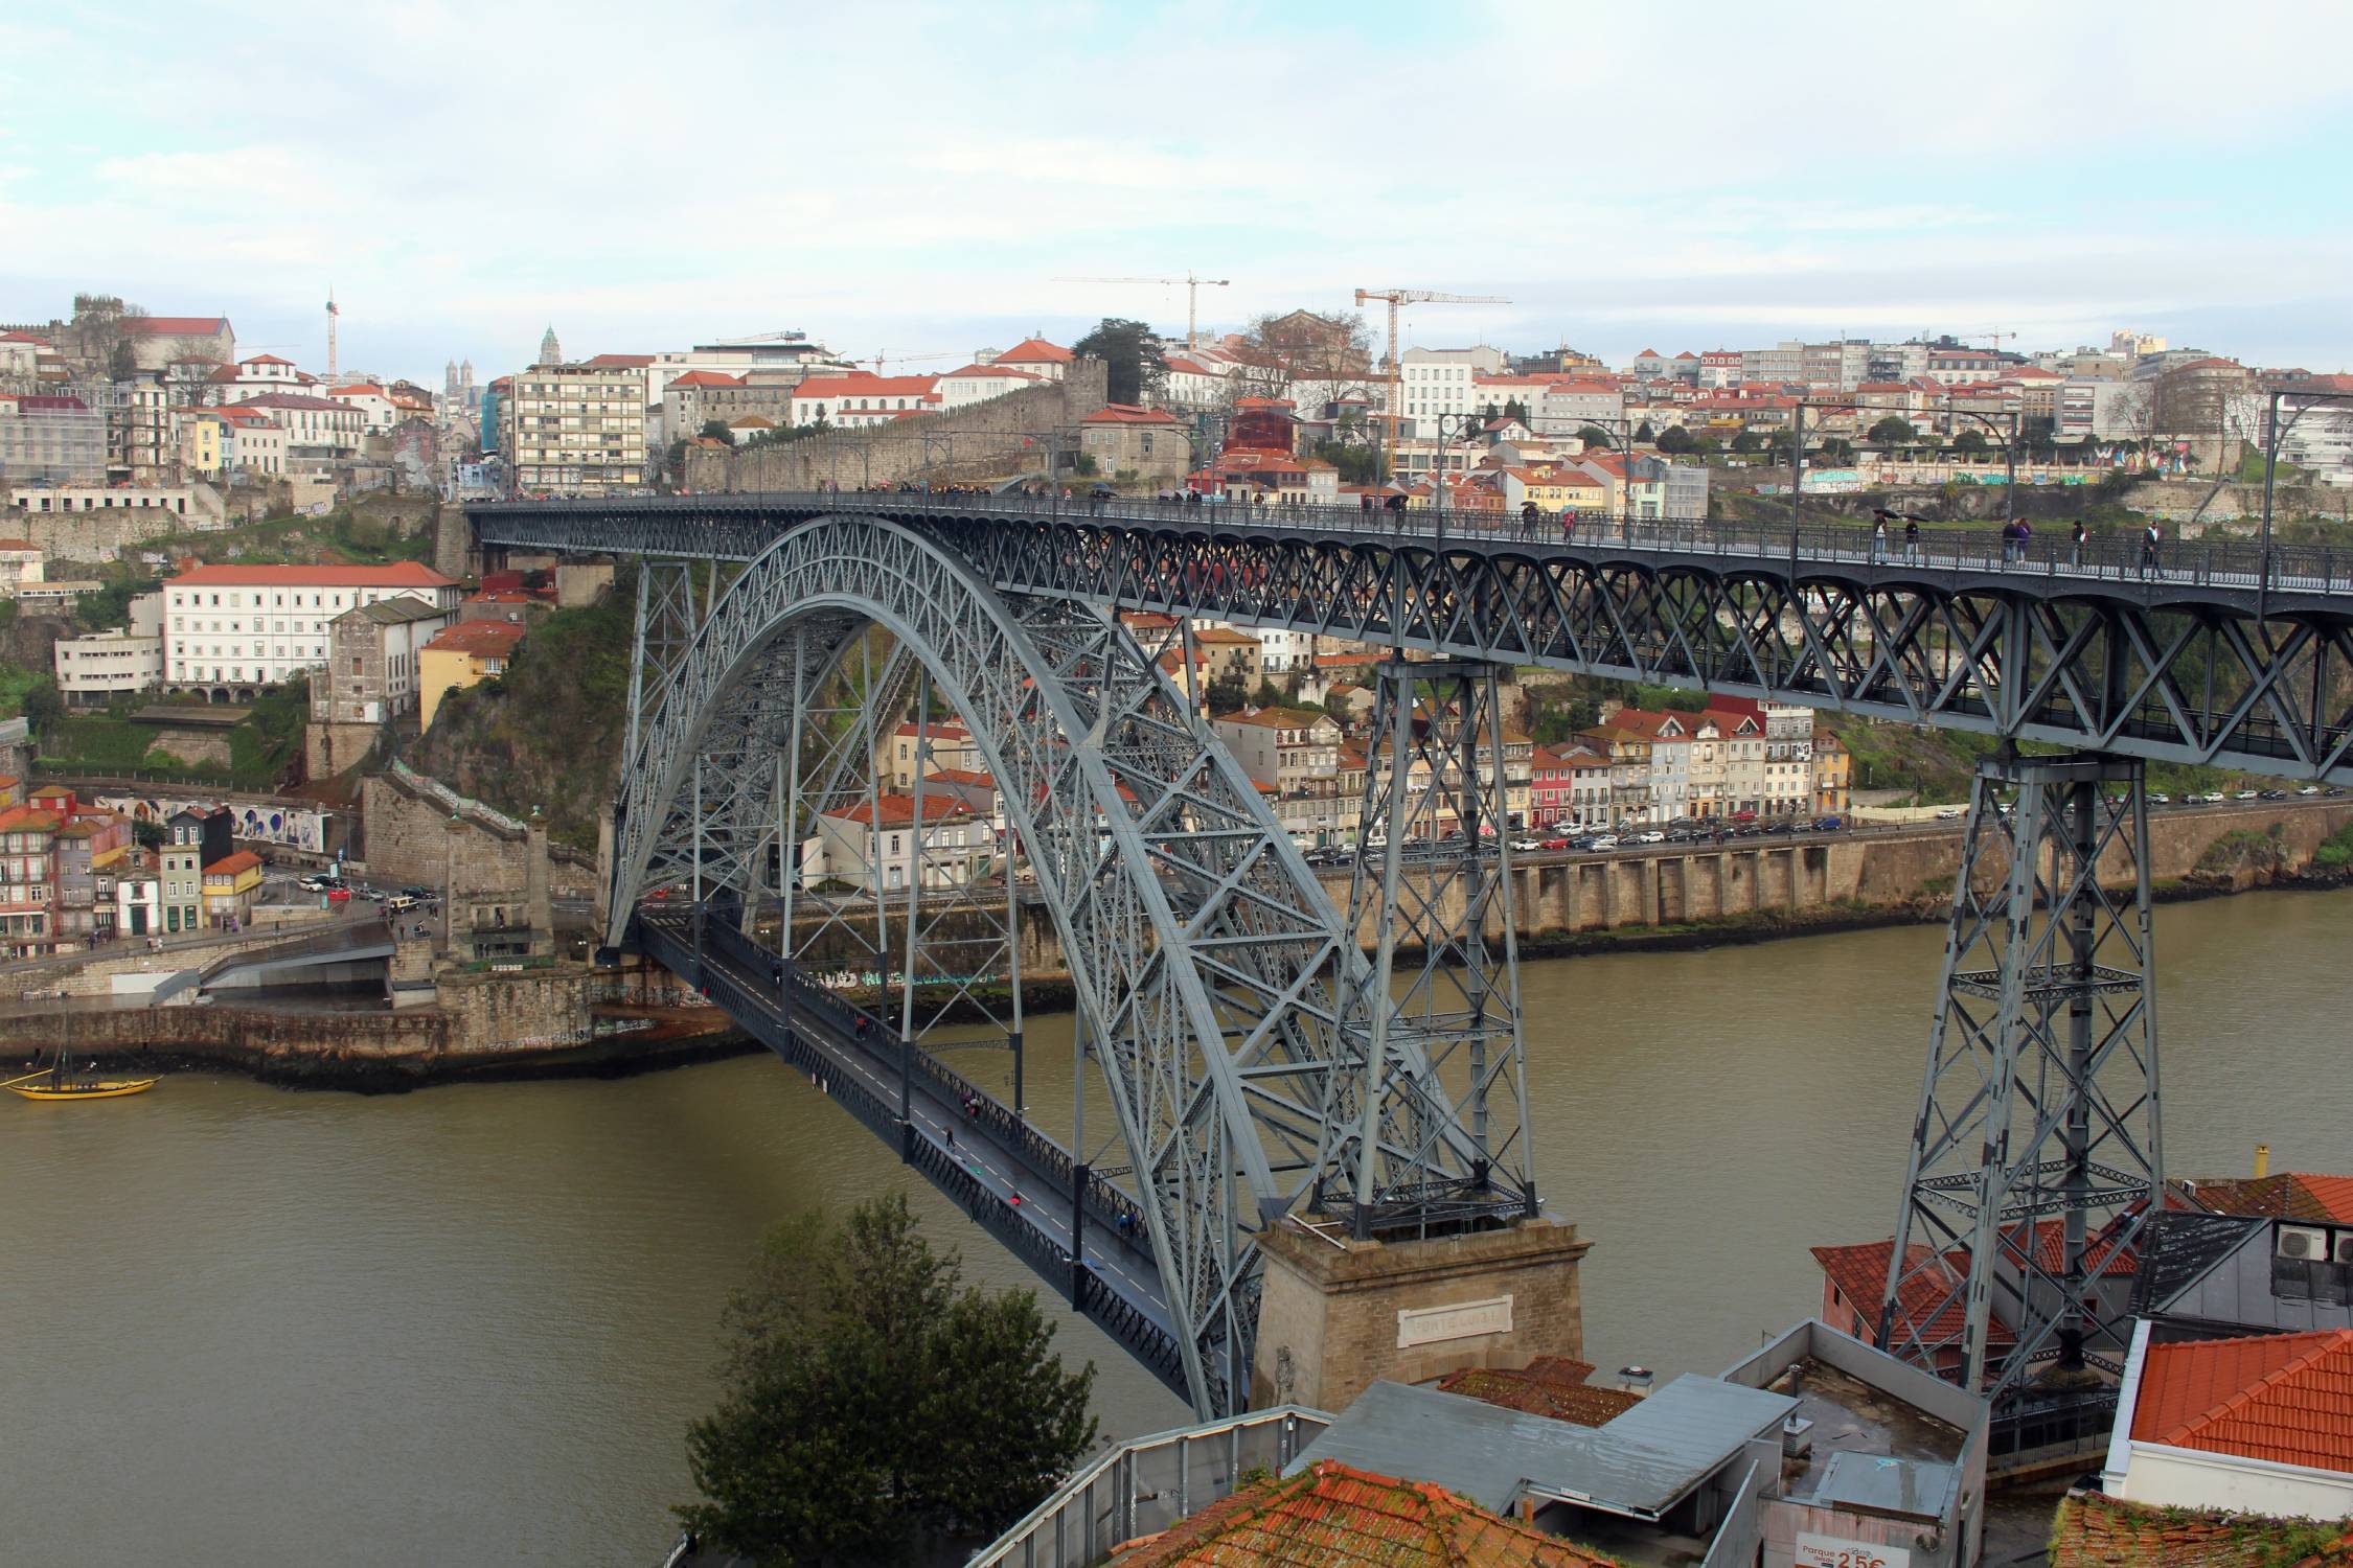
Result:
M2151 609L2353 621L2353 550L2191 538L2144 545L2104 534L2080 548L2068 531L2007 545L1991 529L1922 529L1873 538L1859 524L1727 522L1704 517L1560 517L1362 505L1242 505L946 491L769 491L711 496L567 496L468 503L485 543L621 548L609 524L661 555L748 559L776 531L821 515L880 515L908 524L1007 522L1085 531L1179 534L1268 548L1447 550L1628 564L1659 571L1918 585L2033 599L2129 599ZM602 541L602 543L600 543Z

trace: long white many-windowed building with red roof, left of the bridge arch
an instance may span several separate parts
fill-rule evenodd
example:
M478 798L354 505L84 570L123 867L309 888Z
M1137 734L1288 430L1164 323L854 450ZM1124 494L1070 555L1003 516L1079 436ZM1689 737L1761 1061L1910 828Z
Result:
M419 562L395 567L195 567L165 592L165 684L252 691L327 658L327 625L402 595L454 611L459 585Z

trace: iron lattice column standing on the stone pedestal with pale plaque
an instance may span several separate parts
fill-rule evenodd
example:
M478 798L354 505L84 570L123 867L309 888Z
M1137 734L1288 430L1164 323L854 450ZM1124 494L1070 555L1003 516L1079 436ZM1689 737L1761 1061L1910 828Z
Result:
M1537 1211L1501 719L1497 665L1379 665L1348 886L1348 929L1374 938L1353 1011L1367 1032L1348 1194L1360 1237ZM1407 1070L1414 1058L1426 1070ZM1447 1154L1464 1119L1466 1161Z

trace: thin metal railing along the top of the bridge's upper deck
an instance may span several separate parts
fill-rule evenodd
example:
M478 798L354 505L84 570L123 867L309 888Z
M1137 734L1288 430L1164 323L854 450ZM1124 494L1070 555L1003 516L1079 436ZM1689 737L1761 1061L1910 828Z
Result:
M532 503L522 503L532 505ZM2240 538L2160 541L2146 548L2139 534L2097 531L2075 545L2064 524L2024 543L2002 541L1995 529L1922 529L1915 543L1889 527L1885 543L1854 524L1788 524L1784 520L1718 517L1617 517L1605 512L1541 512L1534 524L1508 512L1459 512L1435 508L1362 505L1245 505L1235 501L1191 505L1148 496L972 496L939 491L755 491L727 496L595 498L607 515L689 510L711 520L774 517L776 512L875 512L887 517L1005 517L1009 522L1146 524L1181 531L1282 529L1346 538L1447 541L1494 548L1626 548L1661 555L1746 557L1795 564L1920 567L1939 571L1986 571L1995 576L2045 576L2137 583L2141 578L2299 592L2353 590L2353 550L2329 545L2261 545Z

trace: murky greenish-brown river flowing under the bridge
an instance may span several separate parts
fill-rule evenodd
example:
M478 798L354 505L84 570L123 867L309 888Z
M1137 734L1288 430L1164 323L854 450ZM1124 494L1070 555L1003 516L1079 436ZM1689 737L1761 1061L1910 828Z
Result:
M2275 1168L2353 1168L2348 936L2353 891L2158 914L2177 1173L2245 1173L2259 1140ZM1887 1234L1939 952L1911 926L1525 969L1539 1180L1593 1239L1593 1361L1720 1368L1812 1309L1807 1246ZM1031 1039L1059 1131L1068 1023ZM762 1227L892 1185L972 1276L1035 1284L765 1056L395 1098L12 1098L0 1559L659 1561ZM1101 1366L1106 1434L1186 1418L1056 1321Z

